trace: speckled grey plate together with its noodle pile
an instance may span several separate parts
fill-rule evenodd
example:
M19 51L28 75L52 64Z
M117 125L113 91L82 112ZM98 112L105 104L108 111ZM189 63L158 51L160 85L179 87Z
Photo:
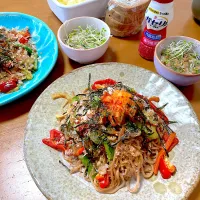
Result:
M126 64L96 64L58 79L38 98L25 158L51 199L184 199L199 176L198 130L187 100L166 80Z

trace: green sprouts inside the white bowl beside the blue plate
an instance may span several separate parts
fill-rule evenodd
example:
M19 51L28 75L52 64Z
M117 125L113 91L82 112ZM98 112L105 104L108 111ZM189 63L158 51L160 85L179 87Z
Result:
M86 28L78 26L67 35L65 43L74 49L92 49L106 41L105 33L105 28L99 31L89 25Z

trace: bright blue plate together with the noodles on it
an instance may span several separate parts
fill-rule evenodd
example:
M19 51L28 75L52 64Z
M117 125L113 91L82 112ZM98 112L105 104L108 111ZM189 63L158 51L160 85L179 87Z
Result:
M58 57L53 31L42 20L18 12L0 13L0 48L0 106L37 87Z

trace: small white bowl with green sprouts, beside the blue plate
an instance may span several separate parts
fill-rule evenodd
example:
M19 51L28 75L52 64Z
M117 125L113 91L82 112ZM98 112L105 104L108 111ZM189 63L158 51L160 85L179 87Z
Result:
M72 60L88 64L99 59L107 50L110 28L94 17L77 17L58 29L58 41L63 52Z

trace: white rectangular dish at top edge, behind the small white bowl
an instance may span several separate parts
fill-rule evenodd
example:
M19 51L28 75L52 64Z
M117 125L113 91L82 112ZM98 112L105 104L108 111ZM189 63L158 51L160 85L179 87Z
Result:
M102 17L105 14L109 0L86 0L85 2L67 6L59 3L57 0L47 0L50 9L61 22L81 17Z

